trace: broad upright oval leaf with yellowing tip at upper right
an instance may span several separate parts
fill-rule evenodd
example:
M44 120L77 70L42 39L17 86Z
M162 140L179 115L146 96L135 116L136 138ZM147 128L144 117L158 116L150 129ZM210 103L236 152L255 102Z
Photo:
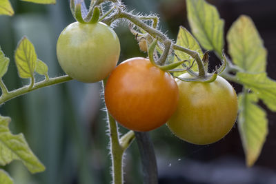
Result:
M266 71L267 51L250 17L240 16L227 34L233 62L248 72Z

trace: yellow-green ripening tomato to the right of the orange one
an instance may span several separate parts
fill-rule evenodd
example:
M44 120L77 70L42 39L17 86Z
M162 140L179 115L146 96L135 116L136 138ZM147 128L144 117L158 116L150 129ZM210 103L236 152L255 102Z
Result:
M221 76L212 83L176 81L179 103L167 123L172 133L198 145L223 138L237 118L237 94L232 85Z

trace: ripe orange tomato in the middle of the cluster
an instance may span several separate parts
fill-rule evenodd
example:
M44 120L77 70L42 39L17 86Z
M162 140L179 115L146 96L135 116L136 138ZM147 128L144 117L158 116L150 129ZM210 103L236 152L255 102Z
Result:
M139 57L119 64L105 88L111 116L124 127L139 132L164 125L175 112L178 99L172 76Z

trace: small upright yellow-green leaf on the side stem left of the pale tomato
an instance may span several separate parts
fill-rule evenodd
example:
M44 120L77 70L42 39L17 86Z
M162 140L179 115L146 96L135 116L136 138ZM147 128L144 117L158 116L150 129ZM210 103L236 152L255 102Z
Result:
M34 74L34 68L37 61L37 54L34 50L34 45L23 37L17 45L15 51L15 63L21 78L31 78Z

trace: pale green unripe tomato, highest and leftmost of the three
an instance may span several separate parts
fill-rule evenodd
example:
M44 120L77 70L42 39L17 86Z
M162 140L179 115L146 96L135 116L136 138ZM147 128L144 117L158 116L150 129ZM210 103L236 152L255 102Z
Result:
M71 23L59 35L57 59L61 68L77 81L105 79L119 60L117 34L104 23Z

